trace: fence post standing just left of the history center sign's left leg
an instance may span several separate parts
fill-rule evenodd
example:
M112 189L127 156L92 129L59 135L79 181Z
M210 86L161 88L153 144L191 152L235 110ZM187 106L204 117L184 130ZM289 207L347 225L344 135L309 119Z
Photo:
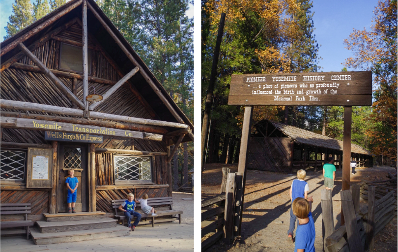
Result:
M231 244L235 194L235 173L228 173L225 192L224 242Z

